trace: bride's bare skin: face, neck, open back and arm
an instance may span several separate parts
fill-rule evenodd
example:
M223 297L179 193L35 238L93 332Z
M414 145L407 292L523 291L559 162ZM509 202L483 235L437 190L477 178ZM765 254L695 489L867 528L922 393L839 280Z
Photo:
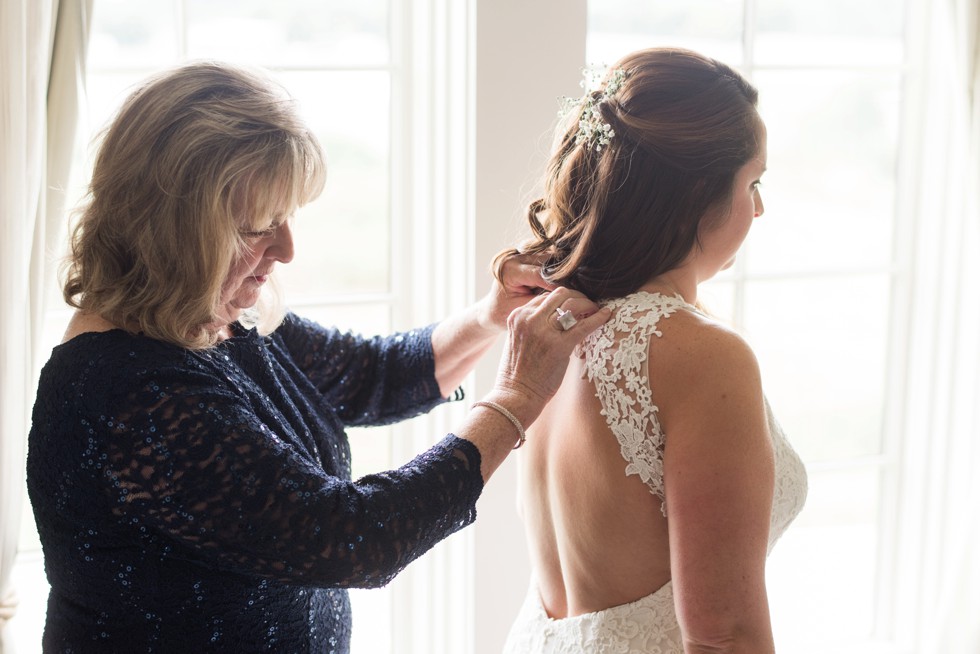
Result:
M729 267L764 207L758 156L738 172L730 206L685 261L643 290L697 302ZM635 601L672 582L687 654L774 651L765 588L773 453L759 367L749 346L694 311L660 321L650 387L666 434L661 500L635 475L595 388L573 358L521 454L521 511L538 590L553 618Z

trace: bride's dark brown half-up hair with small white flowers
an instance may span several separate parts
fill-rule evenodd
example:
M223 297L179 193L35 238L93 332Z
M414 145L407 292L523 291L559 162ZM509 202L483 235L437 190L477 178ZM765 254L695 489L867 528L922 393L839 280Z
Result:
M759 149L758 92L689 50L627 55L559 125L532 237L497 255L544 256L545 279L594 299L621 297L677 267L731 200Z

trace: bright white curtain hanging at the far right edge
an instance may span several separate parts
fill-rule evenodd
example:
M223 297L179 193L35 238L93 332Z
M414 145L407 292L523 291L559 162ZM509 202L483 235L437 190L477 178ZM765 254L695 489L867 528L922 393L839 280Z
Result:
M949 352L949 396L943 422L947 425L946 474L935 481L947 518L939 534L937 602L920 639L928 654L980 652L980 0L945 0L941 19L949 35L937 42L933 72L945 69L951 88L947 158L942 190L948 197L945 216L955 226L950 256L955 268L945 277L954 290L955 316L942 331L937 351Z

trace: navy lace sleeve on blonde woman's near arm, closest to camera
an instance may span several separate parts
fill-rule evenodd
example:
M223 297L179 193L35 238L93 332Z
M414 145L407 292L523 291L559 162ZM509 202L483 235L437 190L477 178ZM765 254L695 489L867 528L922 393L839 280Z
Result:
M287 582L375 587L475 518L482 478L467 441L450 435L397 470L345 481L217 380L179 373L90 418L106 434L110 508L151 550Z

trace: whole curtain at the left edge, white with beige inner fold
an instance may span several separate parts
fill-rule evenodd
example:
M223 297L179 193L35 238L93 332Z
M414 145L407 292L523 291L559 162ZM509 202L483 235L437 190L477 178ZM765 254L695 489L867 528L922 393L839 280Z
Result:
M16 610L23 502L45 291L64 234L64 189L92 0L0 2L0 654Z

